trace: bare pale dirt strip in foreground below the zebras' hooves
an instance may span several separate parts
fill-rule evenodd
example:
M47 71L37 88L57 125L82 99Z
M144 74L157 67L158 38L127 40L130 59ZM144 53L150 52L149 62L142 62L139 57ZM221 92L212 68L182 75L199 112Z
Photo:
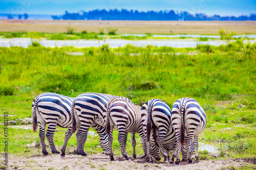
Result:
M104 154L95 154L83 157L80 155L68 154L61 157L57 154L14 156L9 155L9 166L7 169L221 169L232 166L241 167L248 164L242 159L221 159L208 161L193 161L188 164L181 162L179 165L163 163L146 163L141 156L130 161L122 156L114 156L115 161L110 161L110 157Z

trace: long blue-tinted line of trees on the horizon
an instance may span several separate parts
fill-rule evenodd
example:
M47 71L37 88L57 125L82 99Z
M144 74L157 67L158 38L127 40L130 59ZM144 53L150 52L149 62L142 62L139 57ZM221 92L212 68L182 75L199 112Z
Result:
M92 10L89 12L81 11L80 13L65 12L63 15L52 15L53 19L69 19L69 20L215 20L215 21L244 21L256 20L256 13L241 16L208 16L203 13L190 14L186 11L175 12L170 11L147 11L139 12L138 10Z

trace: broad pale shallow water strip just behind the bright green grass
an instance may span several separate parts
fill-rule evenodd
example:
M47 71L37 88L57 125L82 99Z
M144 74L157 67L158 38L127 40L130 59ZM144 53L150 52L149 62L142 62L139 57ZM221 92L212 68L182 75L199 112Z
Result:
M251 43L256 40L250 40ZM102 46L103 44L109 44L110 47L125 46L132 44L134 46L170 46L170 47L196 47L198 44L209 44L219 46L221 44L227 44L227 41L215 40L215 41L195 41L195 40L177 40L177 39L165 39L165 40L122 40L122 39L106 39L106 40L41 40L41 45L46 47L55 46L76 46L76 47L88 47L88 46ZM244 41L245 43L248 41ZM28 47L31 45L30 38L0 38L0 46L22 46Z

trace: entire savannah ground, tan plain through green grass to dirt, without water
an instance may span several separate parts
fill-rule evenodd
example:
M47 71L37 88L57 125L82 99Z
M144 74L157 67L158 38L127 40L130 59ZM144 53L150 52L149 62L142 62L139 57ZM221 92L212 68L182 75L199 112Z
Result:
M28 48L0 47L2 122L4 112L9 114L9 165L6 167L2 160L5 153L2 140L2 169L256 169L256 43L244 38L228 39L227 32L223 33L226 45L205 44L195 48L152 45L111 48L108 44L52 48L37 42L41 33L66 36L68 26L74 29L72 36L80 36L84 30L88 34L98 34L100 29L109 27L117 28L117 35L218 35L222 28L238 35L256 34L256 22L253 21L0 20L1 38L16 32L19 32L18 36L26 37L33 32L30 35L33 43ZM200 161L179 165L146 163L138 135L138 159L126 161L121 156L117 131L113 136L115 161L111 162L109 156L101 154L97 134L88 136L84 148L87 157L74 153L77 147L75 134L68 142L66 157L51 153L43 156L38 130L33 132L30 122L33 99L42 92L72 97L83 92L107 93L125 96L137 105L157 98L170 108L179 98L194 98L207 116L207 126L199 136ZM3 138L4 125L1 124L0 128ZM65 131L57 128L54 134L58 150L63 144ZM205 145L210 149L203 147ZM50 151L49 144L47 150ZM131 158L130 135L126 152Z

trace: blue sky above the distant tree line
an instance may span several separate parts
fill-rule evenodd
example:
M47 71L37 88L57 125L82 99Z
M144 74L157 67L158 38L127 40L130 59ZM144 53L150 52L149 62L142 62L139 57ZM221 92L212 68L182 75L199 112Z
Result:
M93 9L174 10L188 11L192 14L239 16L256 13L256 0L0 0L0 13L59 15L65 13L66 10L78 12L80 10L89 11Z

